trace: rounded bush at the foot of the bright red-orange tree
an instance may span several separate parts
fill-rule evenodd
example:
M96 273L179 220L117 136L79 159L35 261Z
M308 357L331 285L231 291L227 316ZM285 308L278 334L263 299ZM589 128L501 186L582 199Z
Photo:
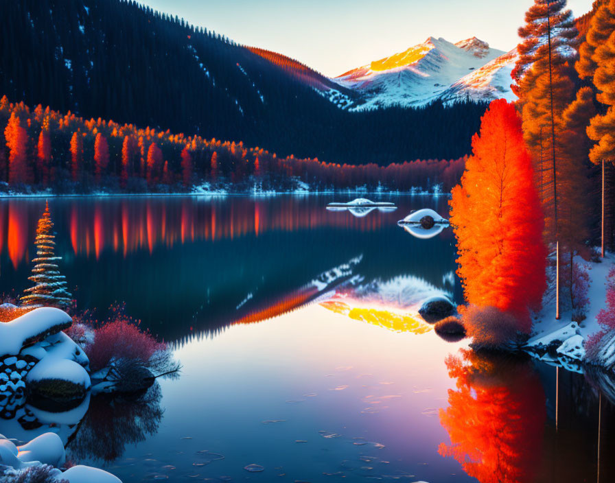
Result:
M517 319L496 307L470 305L463 310L463 327L474 345L485 349L498 349L513 342L518 333Z

